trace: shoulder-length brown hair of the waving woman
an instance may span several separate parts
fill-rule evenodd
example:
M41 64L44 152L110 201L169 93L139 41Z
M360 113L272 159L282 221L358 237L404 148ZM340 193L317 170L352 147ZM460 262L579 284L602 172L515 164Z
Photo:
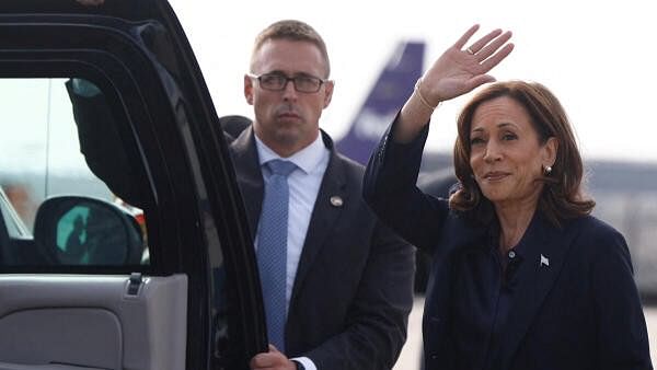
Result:
M539 198L539 211L555 226L560 226L564 219L590 213L596 203L583 194L584 166L568 117L548 88L525 81L497 82L485 88L459 115L454 170L461 186L450 197L450 208L462 211L469 219L482 223L488 223L495 217L493 205L483 196L470 166L470 130L477 107L484 102L502 96L510 97L525 107L541 144L551 137L558 143L552 172L540 178L544 187Z

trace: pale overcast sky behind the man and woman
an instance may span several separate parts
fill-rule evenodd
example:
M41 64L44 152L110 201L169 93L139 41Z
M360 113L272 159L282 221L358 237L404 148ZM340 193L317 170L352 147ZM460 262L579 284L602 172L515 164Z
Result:
M657 32L649 1L170 1L219 115L252 116L242 76L253 38L277 20L306 21L327 44L336 88L320 125L335 139L346 132L397 42L425 41L428 66L480 23L477 35L495 27L515 34L515 51L493 74L550 88L570 116L585 157L657 162ZM434 114L428 150L451 150L454 117L466 99Z

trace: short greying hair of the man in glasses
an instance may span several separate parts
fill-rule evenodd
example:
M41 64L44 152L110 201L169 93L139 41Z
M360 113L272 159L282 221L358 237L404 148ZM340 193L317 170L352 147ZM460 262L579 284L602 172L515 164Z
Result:
M287 39L292 42L308 42L315 45L326 62L326 76L331 74L331 63L328 62L328 53L326 51L326 44L320 34L311 27L308 23L296 21L296 20L283 20L270 24L268 27L263 30L256 37L253 44L253 51L251 53L251 71L254 70L255 54L260 48L269 39Z

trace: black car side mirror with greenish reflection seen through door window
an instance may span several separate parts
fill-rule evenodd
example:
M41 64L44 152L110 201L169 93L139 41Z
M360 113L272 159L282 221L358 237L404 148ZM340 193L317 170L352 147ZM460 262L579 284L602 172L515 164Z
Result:
M137 221L101 199L57 196L36 212L34 243L53 265L139 265L143 235Z

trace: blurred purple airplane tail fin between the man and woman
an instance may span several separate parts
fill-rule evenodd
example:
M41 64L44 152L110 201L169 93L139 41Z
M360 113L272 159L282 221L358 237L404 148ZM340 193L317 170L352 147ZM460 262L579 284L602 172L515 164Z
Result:
M354 118L349 131L336 143L344 155L366 164L371 151L422 76L424 43L400 43Z

